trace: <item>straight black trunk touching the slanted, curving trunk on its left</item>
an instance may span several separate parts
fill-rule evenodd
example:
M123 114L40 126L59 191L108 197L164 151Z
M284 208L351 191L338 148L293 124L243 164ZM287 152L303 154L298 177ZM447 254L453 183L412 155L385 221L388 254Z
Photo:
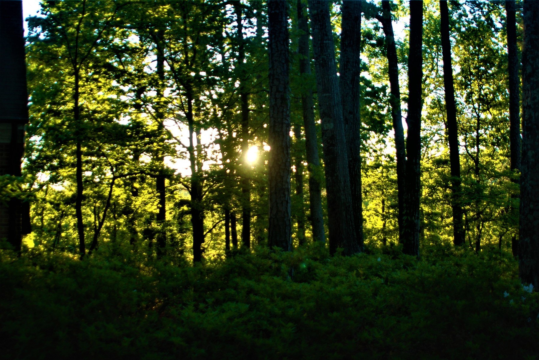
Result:
M423 1L410 2L410 53L408 56L408 136L406 140L406 208L403 218L404 248L419 256L419 199L421 193L421 95L423 90Z

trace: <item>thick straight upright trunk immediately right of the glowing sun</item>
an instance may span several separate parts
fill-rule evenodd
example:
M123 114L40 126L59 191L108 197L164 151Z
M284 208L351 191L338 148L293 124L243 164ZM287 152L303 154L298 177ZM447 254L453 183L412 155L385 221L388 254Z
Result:
M292 250L290 200L290 88L287 2L268 0L269 246Z

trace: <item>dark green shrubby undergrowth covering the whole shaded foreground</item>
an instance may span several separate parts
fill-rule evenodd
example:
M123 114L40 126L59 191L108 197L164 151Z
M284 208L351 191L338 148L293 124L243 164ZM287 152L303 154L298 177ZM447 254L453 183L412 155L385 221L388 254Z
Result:
M191 266L102 248L0 252L2 356L469 358L539 354L539 293L486 248L329 257L258 248Z

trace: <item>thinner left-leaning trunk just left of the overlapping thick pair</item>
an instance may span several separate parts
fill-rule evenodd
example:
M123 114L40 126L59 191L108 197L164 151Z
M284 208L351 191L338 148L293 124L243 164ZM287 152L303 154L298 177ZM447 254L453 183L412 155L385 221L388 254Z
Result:
M305 6L301 0L297 3L298 27L301 31L298 41L298 52L300 54L300 74L310 77L310 54L309 54L309 27ZM314 123L314 101L313 90L307 89L301 94L301 104L303 110L303 128L305 129L305 147L307 157L307 170L309 171L309 221L313 231L314 241L326 241L324 234L324 218L322 214L322 167L318 155L318 143L316 141L316 125Z

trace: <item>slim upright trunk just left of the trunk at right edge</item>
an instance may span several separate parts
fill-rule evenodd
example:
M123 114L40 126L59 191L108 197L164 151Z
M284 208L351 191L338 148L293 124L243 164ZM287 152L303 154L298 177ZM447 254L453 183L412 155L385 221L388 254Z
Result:
M520 78L519 78L519 55L516 45L516 10L515 1L506 0L507 13L507 51L508 51L508 73L509 73L509 148L511 151L511 170L520 170ZM518 181L514 179L513 181ZM512 195L512 199L517 199L518 195ZM515 207L511 207L512 213L516 212ZM519 254L519 243L513 234L511 239L511 249L513 256Z

